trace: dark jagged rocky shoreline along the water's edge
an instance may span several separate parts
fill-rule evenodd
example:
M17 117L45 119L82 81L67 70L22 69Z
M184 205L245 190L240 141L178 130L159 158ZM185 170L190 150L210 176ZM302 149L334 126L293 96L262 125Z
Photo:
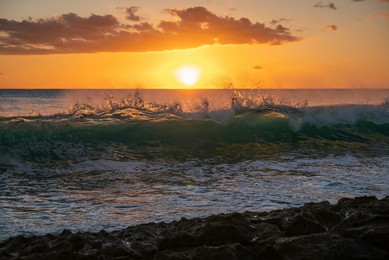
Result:
M389 259L389 196L23 237L0 259Z

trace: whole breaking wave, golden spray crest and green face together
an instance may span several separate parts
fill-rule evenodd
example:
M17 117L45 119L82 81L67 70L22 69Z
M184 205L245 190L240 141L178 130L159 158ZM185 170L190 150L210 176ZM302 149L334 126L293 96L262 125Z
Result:
M389 149L389 102L310 106L235 91L221 108L203 99L185 111L180 103L147 102L136 94L47 116L32 111L0 118L0 170L21 162L60 167L101 158L235 163L307 149Z

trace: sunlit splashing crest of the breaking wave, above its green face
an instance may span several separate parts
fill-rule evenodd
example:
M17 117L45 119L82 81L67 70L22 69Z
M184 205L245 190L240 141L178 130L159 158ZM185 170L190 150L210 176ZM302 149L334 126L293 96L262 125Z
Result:
M352 124L358 120L372 121L376 124L389 123L389 101L382 104L339 104L312 106L305 100L303 103L282 102L276 96L257 95L245 96L237 90L228 104L211 104L204 98L199 104L192 104L190 108L180 102L161 104L142 99L137 92L134 96L128 95L116 100L113 95L104 98L102 105L77 103L68 110L61 110L51 115L42 116L39 111L32 110L28 116L9 115L0 116L0 122L6 124L15 121L31 121L36 119L68 121L84 120L98 121L103 119L131 120L131 119L160 119L181 118L201 121L213 121L227 124L235 116L256 112L275 112L282 114L294 130L309 123L318 127L324 125Z

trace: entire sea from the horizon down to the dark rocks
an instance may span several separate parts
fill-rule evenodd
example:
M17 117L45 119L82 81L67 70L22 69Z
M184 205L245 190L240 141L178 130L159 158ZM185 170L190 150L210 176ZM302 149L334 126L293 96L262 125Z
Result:
M0 241L389 195L389 90L0 90Z

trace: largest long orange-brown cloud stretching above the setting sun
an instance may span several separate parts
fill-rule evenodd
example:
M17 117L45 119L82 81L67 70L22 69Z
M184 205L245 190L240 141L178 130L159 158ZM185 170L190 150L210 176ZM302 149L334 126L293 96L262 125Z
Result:
M163 9L173 20L129 25L112 14L61 14L35 21L0 19L0 54L149 52L205 45L298 42L288 28L266 27L247 18L217 16L203 6Z

